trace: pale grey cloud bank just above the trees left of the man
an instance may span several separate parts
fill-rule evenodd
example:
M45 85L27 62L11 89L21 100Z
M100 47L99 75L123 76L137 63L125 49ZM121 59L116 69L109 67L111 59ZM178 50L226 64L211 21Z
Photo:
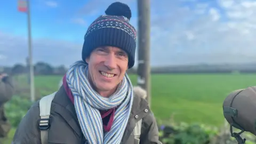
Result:
M52 65L69 66L82 58L82 45L54 39L33 39L33 61L45 61ZM28 56L27 38L12 36L0 31L0 59L4 65L25 63ZM2 55L2 56L1 56Z

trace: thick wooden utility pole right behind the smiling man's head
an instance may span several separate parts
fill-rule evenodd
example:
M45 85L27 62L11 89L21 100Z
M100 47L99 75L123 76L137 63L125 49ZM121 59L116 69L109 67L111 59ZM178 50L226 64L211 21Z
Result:
M150 77L150 0L137 0L138 3L138 40L139 65L138 85L147 91L147 101L151 105Z

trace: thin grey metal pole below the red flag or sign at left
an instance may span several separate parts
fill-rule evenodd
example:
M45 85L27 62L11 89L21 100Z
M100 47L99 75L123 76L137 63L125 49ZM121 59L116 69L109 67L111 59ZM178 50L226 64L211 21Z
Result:
M33 65L33 51L31 46L31 24L30 24L30 5L27 0L27 15L28 15L28 54L29 54L29 71L30 71L30 99L35 101L35 86L34 86L34 65Z

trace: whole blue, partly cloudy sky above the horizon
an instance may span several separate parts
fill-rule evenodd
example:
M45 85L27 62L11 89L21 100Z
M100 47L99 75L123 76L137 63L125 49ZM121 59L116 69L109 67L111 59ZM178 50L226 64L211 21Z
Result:
M69 66L80 60L87 27L112 2L115 1L31 1L34 62ZM120 2L131 7L131 23L137 28L137 2ZM162 2L151 0L151 65L256 61L256 1ZM18 12L17 4L3 1L0 9L1 65L25 63L28 55L27 15Z

